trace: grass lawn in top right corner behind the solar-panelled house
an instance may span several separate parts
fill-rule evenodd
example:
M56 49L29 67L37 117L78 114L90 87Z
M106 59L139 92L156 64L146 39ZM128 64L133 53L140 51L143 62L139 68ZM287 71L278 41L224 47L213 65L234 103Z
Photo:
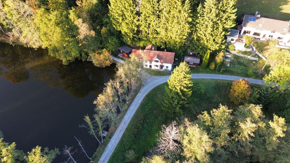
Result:
M237 17L243 14L255 14L256 11L262 17L289 21L290 0L237 0Z

